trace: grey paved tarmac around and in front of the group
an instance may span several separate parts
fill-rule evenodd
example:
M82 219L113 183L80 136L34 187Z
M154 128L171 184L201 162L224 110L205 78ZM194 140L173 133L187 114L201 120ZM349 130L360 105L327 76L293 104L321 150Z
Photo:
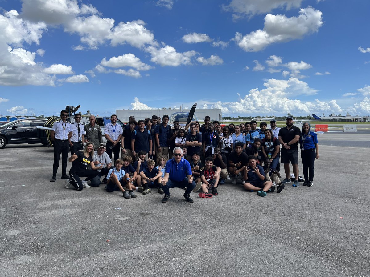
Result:
M370 276L368 137L320 135L311 188L262 198L226 183L194 204L181 189L166 204L65 189L49 182L51 148L7 146L0 276Z

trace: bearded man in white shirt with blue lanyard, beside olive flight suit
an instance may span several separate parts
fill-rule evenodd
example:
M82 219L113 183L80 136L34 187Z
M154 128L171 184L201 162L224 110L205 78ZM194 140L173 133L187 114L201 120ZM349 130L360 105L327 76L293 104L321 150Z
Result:
M114 161L120 158L122 132L121 125L117 124L117 115L112 114L111 123L105 125L104 136L107 138L107 154L112 158L112 153L114 153Z

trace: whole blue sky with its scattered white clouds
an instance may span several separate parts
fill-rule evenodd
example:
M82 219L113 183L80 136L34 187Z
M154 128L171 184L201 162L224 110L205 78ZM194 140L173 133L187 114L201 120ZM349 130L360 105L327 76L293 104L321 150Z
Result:
M370 114L369 1L0 0L0 114Z

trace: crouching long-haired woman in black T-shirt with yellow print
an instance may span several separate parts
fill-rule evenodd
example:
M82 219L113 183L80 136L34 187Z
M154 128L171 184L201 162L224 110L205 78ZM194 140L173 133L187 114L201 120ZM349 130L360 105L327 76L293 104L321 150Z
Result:
M85 145L84 150L79 150L77 153L73 153L68 159L72 163L70 169L70 178L65 180L65 188L70 188L73 185L78 191L82 191L84 187L90 188L87 181L94 178L99 174L97 169L101 169L103 165L95 166L92 157L94 156L94 143L91 141ZM91 169L87 169L90 167ZM87 177L84 181L81 181L81 177Z

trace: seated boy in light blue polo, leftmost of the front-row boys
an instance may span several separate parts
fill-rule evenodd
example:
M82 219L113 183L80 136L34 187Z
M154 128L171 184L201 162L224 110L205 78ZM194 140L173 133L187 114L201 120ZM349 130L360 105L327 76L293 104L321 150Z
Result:
M122 170L123 161L121 159L118 159L115 161L115 168L112 168L108 172L109 179L107 180L107 185L105 186L105 189L108 192L112 191L122 191L124 198L135 198L136 195L134 194L134 191L132 189L133 184L131 182L131 179L129 178L128 173L125 173L124 170ZM129 189L129 192L125 191L123 187L127 187Z

